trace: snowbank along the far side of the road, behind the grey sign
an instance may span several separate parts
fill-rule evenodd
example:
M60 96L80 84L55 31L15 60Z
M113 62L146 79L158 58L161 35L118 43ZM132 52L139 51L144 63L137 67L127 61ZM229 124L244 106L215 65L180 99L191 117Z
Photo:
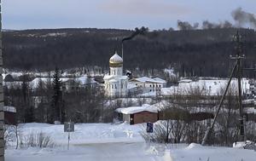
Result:
M64 133L64 125L55 124L20 124L21 135L43 132L49 135L56 144L67 144L67 133ZM70 143L106 143L106 142L134 142L143 141L139 134L141 125L129 124L75 124L75 131L71 133Z

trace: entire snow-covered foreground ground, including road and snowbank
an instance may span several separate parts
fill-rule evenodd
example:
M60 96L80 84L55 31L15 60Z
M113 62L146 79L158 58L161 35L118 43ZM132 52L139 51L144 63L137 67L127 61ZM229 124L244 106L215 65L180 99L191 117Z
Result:
M63 125L20 124L20 134L43 132L56 147L8 147L6 161L255 161L256 152L231 147L201 147L198 144L149 144L140 132L142 124L76 124L67 150Z

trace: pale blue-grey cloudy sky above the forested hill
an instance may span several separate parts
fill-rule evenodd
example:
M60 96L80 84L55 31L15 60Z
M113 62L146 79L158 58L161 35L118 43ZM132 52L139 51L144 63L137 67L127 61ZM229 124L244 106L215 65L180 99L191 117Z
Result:
M2 0L3 29L177 28L189 23L232 20L241 7L256 14L256 0Z

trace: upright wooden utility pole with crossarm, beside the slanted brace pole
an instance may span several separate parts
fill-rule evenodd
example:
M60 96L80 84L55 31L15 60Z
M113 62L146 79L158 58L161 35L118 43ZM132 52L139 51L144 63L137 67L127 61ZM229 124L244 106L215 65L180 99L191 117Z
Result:
M234 36L234 41L236 43L236 56L231 56L231 59L237 60L237 82L238 82L238 107L239 107L239 140L240 141L246 141L245 137L245 117L243 113L242 108L242 102L241 102L241 60L245 59L244 55L241 55L241 35L239 32L236 32L236 35Z

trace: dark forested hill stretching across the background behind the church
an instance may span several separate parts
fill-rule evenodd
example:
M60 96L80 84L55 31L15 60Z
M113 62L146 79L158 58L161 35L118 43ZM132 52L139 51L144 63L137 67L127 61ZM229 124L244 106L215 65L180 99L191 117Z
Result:
M124 43L124 67L131 71L175 68L181 75L227 77L233 61L235 28L154 31ZM3 32L3 61L9 69L53 70L78 66L108 69L108 59L132 31L45 29ZM256 32L240 29L244 66L256 64Z

